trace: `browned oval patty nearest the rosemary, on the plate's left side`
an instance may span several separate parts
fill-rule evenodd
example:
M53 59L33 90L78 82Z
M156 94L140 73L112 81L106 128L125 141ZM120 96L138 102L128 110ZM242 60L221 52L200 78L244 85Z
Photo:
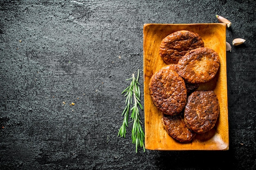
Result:
M163 67L151 77L149 90L155 106L167 115L177 115L186 104L185 82L170 66Z

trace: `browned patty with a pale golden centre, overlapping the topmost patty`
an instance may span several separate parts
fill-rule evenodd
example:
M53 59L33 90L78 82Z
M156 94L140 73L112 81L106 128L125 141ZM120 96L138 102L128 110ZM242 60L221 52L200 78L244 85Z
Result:
M213 49L201 47L186 53L178 62L178 74L190 83L213 79L220 67L219 55Z

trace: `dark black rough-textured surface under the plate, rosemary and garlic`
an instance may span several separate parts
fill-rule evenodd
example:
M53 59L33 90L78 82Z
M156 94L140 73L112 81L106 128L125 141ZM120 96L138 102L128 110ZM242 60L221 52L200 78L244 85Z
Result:
M143 24L216 14L246 40L227 52L229 150L136 154L117 133L125 79L143 84ZM0 0L0 169L256 169L255 35L255 0Z

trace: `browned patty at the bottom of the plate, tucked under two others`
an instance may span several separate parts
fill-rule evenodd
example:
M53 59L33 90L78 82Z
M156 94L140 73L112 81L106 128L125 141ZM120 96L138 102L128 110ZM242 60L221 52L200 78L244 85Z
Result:
M180 114L175 116L163 114L162 123L168 135L170 135L171 137L173 137L173 139L176 139L177 141L191 141L196 135L195 132L193 132L186 126L184 119L181 117Z

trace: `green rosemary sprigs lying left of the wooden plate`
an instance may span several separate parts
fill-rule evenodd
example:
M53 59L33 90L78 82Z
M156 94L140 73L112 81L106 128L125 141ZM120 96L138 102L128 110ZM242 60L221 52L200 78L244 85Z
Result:
M139 107L141 110L143 110L142 105L140 104L140 89L139 89L139 70L137 74L137 78L135 78L135 75L132 74L132 78L130 78L132 81L130 82L130 85L124 89L122 94L126 93L124 96L126 96L126 107L124 108L124 111L122 115L124 115L124 121L122 126L119 129L118 135L120 137L125 137L126 135L126 127L128 127L128 123L133 121L133 126L132 126L132 144L135 144L136 148L136 153L137 153L137 148L138 146L143 147L143 150L145 152L145 146L144 146L144 139L145 135L142 130L141 124L142 122L140 121L140 116L139 116ZM130 80L126 79L126 80ZM134 99L134 104L132 108L130 109L130 105L132 104L132 97ZM129 111L131 110L131 121L128 122L128 117L129 117Z

